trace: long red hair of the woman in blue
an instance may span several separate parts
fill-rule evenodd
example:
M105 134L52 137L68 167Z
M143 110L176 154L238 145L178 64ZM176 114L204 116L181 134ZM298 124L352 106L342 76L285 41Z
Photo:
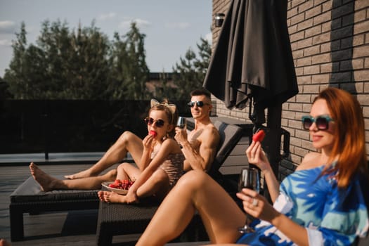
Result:
M361 105L349 92L334 87L321 91L314 99L327 102L330 116L335 120L335 143L330 162L338 157L337 164L330 171L338 171L338 187L347 187L352 176L358 171L368 175L365 150L365 124ZM328 167L323 174L328 172Z

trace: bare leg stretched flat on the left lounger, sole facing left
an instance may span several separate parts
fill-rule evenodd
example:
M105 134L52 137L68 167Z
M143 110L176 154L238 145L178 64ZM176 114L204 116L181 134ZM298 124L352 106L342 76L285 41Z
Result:
M46 174L36 164L30 164L31 174L44 191L50 190L96 190L101 188L104 181L113 181L117 176L117 170L110 170L102 176L88 177L84 179L60 180Z

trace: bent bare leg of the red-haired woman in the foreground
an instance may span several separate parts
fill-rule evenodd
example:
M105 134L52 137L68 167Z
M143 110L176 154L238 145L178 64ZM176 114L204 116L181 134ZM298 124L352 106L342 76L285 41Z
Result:
M216 181L204 171L189 171L164 199L151 219L140 245L164 245L190 223L196 209L213 243L234 243L245 214Z

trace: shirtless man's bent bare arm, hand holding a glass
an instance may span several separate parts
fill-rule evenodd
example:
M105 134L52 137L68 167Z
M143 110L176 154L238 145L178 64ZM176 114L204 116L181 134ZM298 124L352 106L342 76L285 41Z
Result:
M183 169L189 171L190 169L201 169L209 171L216 150L219 144L219 132L215 127L207 127L202 131L198 141L200 141L200 148L196 151L188 141L183 141L182 152L186 157Z

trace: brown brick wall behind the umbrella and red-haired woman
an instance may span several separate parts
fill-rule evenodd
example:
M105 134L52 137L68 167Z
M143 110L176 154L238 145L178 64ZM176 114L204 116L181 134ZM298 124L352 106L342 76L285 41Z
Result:
M213 15L227 13L231 0L213 0ZM299 94L283 104L282 127L290 132L291 160L299 164L316 151L300 119L311 101L328 86L357 95L363 105L369 140L369 1L288 0L287 26L299 84ZM213 48L220 28L213 25ZM248 119L248 111L228 110L216 100L216 114ZM369 153L369 141L367 150Z

